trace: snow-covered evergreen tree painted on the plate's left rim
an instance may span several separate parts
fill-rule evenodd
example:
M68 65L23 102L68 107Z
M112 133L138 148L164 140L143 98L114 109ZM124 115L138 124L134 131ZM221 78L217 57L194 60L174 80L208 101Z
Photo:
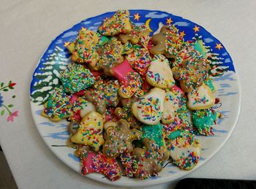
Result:
M59 80L60 71L66 69L70 62L64 50L56 46L53 53L48 55L46 61L39 67L38 72L34 74L37 81L32 86L34 91L31 93L31 99L33 102L40 105L45 104L50 92L54 88L61 86L61 81Z

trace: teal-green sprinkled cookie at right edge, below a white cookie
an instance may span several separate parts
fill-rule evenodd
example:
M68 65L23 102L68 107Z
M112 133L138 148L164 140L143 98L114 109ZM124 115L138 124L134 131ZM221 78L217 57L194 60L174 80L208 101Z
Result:
M212 127L216 125L219 116L219 113L211 108L192 111L192 124L195 127L195 133L206 136L213 134Z

